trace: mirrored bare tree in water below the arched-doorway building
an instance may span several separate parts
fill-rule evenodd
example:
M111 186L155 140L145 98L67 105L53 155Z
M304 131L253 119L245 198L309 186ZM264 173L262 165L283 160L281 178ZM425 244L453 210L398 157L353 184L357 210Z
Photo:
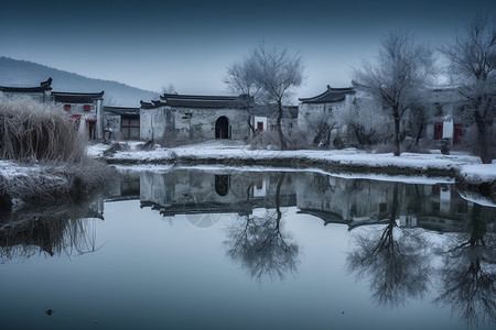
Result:
M280 209L280 191L284 180L281 174L276 189L276 210L268 211L266 217L239 217L227 231L227 255L233 261L240 262L249 274L261 282L262 277L279 276L295 273L298 268L299 246L291 242L284 233Z

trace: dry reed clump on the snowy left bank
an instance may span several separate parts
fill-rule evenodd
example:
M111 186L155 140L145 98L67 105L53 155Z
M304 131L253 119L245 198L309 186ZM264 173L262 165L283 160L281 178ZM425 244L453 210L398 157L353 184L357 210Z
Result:
M104 187L109 169L86 155L86 132L60 107L0 97L0 160L15 168L0 170L0 209L12 199L79 199Z

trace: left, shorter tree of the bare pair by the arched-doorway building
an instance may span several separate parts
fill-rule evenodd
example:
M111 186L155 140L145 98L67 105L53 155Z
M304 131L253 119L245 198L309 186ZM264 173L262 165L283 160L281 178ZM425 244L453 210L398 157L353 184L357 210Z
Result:
M251 134L255 135L255 127L251 123L252 110L255 108L256 99L259 95L260 87L255 84L254 75L250 70L251 58L245 58L241 62L235 62L227 67L227 76L224 78L224 84L227 89L236 95L241 96L242 109L248 112L248 127Z

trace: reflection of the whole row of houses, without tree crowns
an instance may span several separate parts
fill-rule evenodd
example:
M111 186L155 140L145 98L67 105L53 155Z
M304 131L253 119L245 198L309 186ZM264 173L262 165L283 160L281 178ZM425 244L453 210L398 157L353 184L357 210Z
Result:
M317 217L324 224L346 224L349 230L389 223L395 209L400 227L444 232L464 231L472 217L472 202L461 198L451 185L345 179L317 173L191 168L133 172L122 176L109 200L140 199L142 207L152 207L163 216L196 215L200 221L206 220L202 215L250 216L255 209L273 210L279 185L280 207L296 207L299 213ZM198 226L205 224L203 220Z

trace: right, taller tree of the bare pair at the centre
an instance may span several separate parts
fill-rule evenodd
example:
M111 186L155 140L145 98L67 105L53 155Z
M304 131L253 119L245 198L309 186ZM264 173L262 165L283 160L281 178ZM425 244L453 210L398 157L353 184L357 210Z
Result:
M299 52L292 54L287 48L267 50L265 44L260 44L251 52L248 63L250 75L266 100L269 103L277 103L276 127L281 141L281 148L285 150L288 145L281 125L282 103L295 87L303 84L304 64L302 55Z

